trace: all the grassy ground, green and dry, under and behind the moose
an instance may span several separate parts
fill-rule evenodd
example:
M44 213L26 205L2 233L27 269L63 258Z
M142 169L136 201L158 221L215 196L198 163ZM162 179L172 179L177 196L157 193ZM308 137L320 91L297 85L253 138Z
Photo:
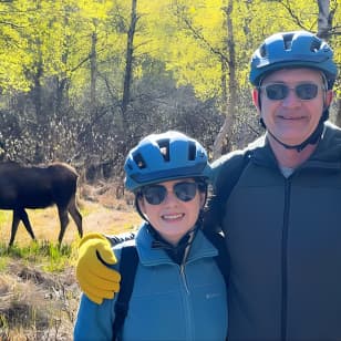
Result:
M86 202L81 207L84 234L117 234L141 221L124 203L107 208ZM80 240L75 225L70 223L59 248L55 207L28 215L38 241L20 224L8 248L11 213L0 210L0 340L71 341L81 294L74 273Z

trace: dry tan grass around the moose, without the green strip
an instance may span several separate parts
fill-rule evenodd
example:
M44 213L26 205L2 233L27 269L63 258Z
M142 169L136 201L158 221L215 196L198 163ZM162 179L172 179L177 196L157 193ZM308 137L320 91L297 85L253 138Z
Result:
M140 216L132 206L132 197L115 199L112 186L83 187L80 208L84 232L118 234L136 227ZM2 214L0 240L10 238L11 213ZM56 208L28 210L39 241L56 242L60 231ZM61 272L46 272L33 259L2 257L0 259L0 340L72 340L73 324L80 298L74 276L76 258L76 227L71 219L63 244L71 245L69 266ZM20 224L16 245L31 244Z

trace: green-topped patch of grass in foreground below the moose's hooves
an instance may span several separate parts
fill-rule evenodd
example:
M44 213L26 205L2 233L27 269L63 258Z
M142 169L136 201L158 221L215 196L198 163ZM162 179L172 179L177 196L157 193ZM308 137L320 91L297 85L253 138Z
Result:
M1 244L0 259L0 340L72 340L80 296L76 248Z

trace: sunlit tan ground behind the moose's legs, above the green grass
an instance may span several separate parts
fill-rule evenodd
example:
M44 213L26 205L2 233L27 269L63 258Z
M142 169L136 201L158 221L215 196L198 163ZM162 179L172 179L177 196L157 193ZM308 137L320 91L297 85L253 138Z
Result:
M112 184L100 184L97 186L82 186L78 200L83 216L83 232L103 232L115 235L131 229L135 229L142 219L133 206L133 197L125 194L122 198L115 197L115 187ZM45 209L27 209L35 238L38 240L58 241L60 223L56 207ZM11 229L11 211L1 211L2 224L0 225L0 240L9 241ZM70 224L63 238L64 244L78 240L78 230L74 221L70 217ZM25 246L31 241L31 237L20 223L16 236L19 246Z

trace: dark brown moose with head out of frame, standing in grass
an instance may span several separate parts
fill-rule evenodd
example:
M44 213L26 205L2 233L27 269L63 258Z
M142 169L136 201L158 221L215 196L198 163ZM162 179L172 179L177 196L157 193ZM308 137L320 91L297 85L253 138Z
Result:
M0 163L0 209L13 210L9 246L14 242L20 220L35 240L25 208L46 208L52 205L56 205L60 218L59 244L61 245L69 224L68 213L82 237L82 216L75 202L78 177L75 169L64 163L46 166L23 166L16 162Z

